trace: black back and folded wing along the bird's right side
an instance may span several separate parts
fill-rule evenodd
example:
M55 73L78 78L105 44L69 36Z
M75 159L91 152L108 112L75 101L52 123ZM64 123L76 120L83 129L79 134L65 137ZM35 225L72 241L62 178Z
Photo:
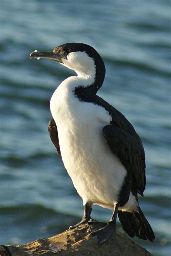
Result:
M97 95L95 101L103 106L112 117L111 125L103 128L103 134L111 152L127 169L128 174L123 186L131 188L133 185L136 192L143 196L146 185L145 153L139 135L126 117L108 102Z

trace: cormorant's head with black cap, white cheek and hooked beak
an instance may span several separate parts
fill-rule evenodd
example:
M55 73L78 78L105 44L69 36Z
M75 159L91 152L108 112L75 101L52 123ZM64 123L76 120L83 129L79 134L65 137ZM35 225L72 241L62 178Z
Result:
M105 65L97 51L84 43L66 43L53 49L53 51L34 51L31 58L45 58L59 62L63 66L74 70L78 76L93 76L96 92L101 87L105 77ZM98 88L97 88L98 87Z

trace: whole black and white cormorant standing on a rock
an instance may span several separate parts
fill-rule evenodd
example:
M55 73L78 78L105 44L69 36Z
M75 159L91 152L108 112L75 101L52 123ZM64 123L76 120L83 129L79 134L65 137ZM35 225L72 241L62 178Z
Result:
M83 199L82 221L91 223L93 205L113 209L105 227L92 232L99 243L112 236L117 214L131 237L154 240L137 194L145 190L145 154L131 123L97 96L105 65L97 51L84 43L66 43L53 51L35 50L30 58L46 58L74 70L54 91L48 130L73 184Z

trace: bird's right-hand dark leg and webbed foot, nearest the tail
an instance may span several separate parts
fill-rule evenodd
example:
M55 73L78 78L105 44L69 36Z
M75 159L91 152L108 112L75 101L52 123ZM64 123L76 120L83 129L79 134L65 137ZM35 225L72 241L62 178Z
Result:
M117 221L117 213L118 213L119 204L117 203L114 207L113 215L105 227L100 228L97 231L91 233L92 236L96 236L98 243L102 244L106 240L108 240L111 236L115 234L116 231L116 221Z

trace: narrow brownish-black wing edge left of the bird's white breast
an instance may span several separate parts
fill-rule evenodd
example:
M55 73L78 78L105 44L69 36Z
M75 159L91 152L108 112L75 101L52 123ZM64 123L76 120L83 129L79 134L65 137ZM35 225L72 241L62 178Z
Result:
M56 147L59 155L61 156L60 144L58 139L58 129L53 118L48 123L48 131L54 146Z

